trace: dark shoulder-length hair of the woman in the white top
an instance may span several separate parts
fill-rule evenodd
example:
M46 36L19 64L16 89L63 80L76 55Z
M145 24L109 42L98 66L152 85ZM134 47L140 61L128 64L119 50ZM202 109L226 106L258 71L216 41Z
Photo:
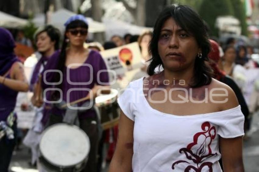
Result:
M158 53L158 40L161 32L161 27L165 21L173 18L176 23L181 26L187 33L194 36L201 48L202 58L196 58L194 64L194 78L190 85L193 88L208 85L212 79L212 69L204 63L208 61L208 53L210 52L210 43L208 33L203 20L191 7L187 5L170 5L162 10L154 25L153 37L149 45L149 51L152 55L150 64L147 68L149 75L154 75L154 69L158 66L164 67L161 57Z

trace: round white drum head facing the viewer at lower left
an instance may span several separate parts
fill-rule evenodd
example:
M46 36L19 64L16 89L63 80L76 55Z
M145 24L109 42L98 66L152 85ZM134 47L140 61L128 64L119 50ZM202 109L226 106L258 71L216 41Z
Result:
M77 126L55 124L43 132L40 151L52 165L69 167L87 158L90 141L85 132Z

